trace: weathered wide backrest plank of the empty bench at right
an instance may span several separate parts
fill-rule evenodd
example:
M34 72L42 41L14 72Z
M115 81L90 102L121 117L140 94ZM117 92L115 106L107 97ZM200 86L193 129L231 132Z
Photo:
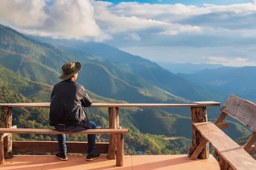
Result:
M235 95L230 95L220 110L256 131L256 104Z

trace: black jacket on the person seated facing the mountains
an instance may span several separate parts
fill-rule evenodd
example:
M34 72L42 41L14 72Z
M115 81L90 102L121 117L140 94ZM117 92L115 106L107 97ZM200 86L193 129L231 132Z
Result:
M54 85L50 105L50 125L65 124L90 128L84 107L92 104L85 88L72 80Z

